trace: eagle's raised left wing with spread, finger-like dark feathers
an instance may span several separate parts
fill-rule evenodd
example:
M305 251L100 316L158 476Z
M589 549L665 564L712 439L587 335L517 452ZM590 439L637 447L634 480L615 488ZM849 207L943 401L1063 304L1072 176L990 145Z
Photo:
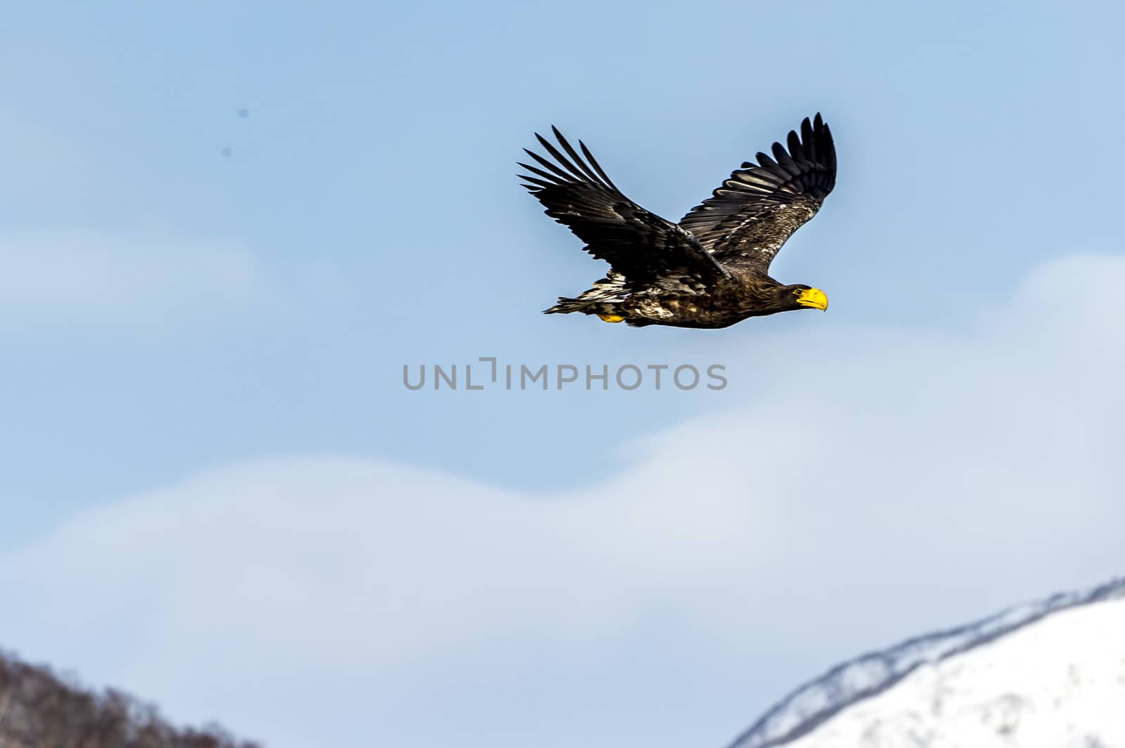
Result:
M551 130L566 155L537 133L555 161L524 148L541 168L521 163L533 174L520 175L523 186L547 207L548 216L586 243L586 252L624 275L627 286L659 280L694 280L705 286L727 274L690 231L622 194L585 144L578 142L579 155L557 128Z

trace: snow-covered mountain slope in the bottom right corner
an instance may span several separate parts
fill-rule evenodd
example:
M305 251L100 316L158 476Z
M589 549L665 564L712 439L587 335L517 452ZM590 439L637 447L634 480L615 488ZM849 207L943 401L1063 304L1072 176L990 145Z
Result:
M1125 748L1125 580L839 665L730 748Z

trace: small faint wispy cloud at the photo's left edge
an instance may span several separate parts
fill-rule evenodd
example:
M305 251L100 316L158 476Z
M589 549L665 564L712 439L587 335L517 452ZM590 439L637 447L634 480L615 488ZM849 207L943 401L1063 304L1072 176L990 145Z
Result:
M245 247L93 230L0 235L0 313L38 321L158 323L226 310L258 292Z

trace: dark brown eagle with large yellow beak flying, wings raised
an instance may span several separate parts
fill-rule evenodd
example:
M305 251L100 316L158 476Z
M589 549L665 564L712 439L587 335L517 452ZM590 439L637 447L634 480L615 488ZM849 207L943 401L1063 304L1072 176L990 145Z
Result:
M605 277L575 298L561 297L547 314L583 312L633 327L722 328L749 317L796 309L828 309L828 297L803 283L770 276L785 240L817 215L836 183L836 147L818 113L791 130L788 148L758 153L687 211L678 224L627 198L579 140L558 128L558 146L536 134L549 158L524 152L526 188L548 216L609 262Z

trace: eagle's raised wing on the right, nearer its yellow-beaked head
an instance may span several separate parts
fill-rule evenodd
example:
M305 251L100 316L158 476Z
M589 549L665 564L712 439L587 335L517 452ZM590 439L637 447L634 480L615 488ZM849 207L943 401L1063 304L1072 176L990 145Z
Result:
M728 266L763 273L793 231L812 218L836 184L832 134L818 113L789 134L789 150L774 143L771 158L746 162L680 225Z

